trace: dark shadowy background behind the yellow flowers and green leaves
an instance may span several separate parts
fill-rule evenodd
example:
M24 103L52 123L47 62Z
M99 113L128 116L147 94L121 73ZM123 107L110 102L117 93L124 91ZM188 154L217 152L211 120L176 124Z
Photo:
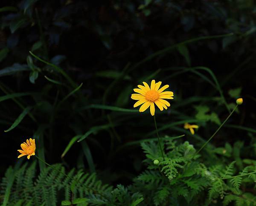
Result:
M33 106L31 113L36 119L26 115L15 129L5 133L23 109L12 99L0 102L1 175L17 162L20 143L46 126L42 132L44 144L39 147L47 162L62 162L67 169L89 170L90 155L85 155L89 151L97 172L102 171L106 182L129 183L143 168L144 155L139 145L122 146L145 138L154 130L153 119L149 113L116 113L88 106L105 104L131 109L135 103L130 99L132 89L154 74L146 80L148 83L151 79L162 81L175 93L168 112L156 114L159 126L183 117L191 119L196 114L194 106L204 104L223 121L228 111L218 90L201 76L184 72L184 68L209 68L229 104L235 103L235 98L228 91L241 87L244 104L230 121L256 128L253 0L2 0L0 7L6 8L0 10L0 96L34 92L16 100L24 107ZM193 41L156 54L186 40ZM54 102L61 101L74 87L54 68L29 55L29 51L61 67L77 86L82 82L79 92L56 108ZM152 54L156 54L154 58L150 58ZM33 60L30 66L28 56ZM214 82L206 71L201 74ZM64 86L49 82L44 76ZM191 104L185 101L193 96L209 100L198 98ZM113 127L89 135L84 140L86 144L75 143L61 158L72 137L104 124ZM198 135L204 139L217 128L212 122L201 126L204 129ZM183 125L178 127L182 129ZM167 134L183 133L169 130ZM200 145L189 134L186 139L196 147ZM240 139L245 145L255 144L244 137L243 131L230 128L223 129L212 144L222 146L225 141L232 144Z

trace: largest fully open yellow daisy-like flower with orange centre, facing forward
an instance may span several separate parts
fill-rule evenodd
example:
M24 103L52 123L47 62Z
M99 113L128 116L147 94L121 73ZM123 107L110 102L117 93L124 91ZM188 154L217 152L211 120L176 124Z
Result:
M173 99L173 92L164 92L164 90L167 89L169 85L164 85L162 88L160 88L161 83L162 82L156 83L155 80L152 80L150 87L146 82L143 82L144 86L138 85L139 89L134 89L134 91L138 94L131 95L131 99L139 100L134 104L134 107L138 107L142 104L139 111L144 112L150 106L150 113L152 116L154 116L155 113L154 104L156 104L161 111L163 111L163 108L167 110L167 107L170 106L170 103L164 99Z

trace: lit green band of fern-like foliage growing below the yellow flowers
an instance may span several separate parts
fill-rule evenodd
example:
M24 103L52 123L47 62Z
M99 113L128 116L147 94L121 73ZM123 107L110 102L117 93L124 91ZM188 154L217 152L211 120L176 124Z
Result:
M238 172L236 161L227 166L221 161L211 166L201 163L188 141L162 138L163 156L156 141L141 146L147 169L127 187L113 188L97 180L95 173L75 169L68 176L76 181L50 167L38 174L33 162L6 171L1 183L3 205L256 205L252 173L256 161L247 159L248 166ZM154 164L154 160L158 161ZM65 172L60 164L54 167Z

